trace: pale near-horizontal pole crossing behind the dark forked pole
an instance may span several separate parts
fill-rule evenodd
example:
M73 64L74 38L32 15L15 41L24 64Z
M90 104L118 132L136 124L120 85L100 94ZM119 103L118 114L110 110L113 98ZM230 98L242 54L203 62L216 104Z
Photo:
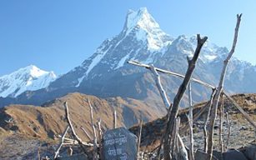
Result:
M129 63L129 64L133 64L133 65L135 65L135 66L145 67L145 68L147 68L147 69L150 69L150 66L149 66L148 64L143 64L143 63L141 63L141 62L128 61L128 63ZM163 72L163 73L166 73L166 74L173 75L173 76L175 76L175 77L182 77L182 78L185 77L184 75L179 74L179 73L177 73L177 72L167 71L167 70L164 70L164 69L161 69L161 68L158 68L158 67L155 67L155 69L156 69L157 72ZM193 78L193 77L191 78L191 81L197 82L198 84L201 84L201 85L203 85L203 86L205 86L205 87L209 87L209 88L212 88L212 89L215 88L213 85L208 84L207 82L203 82L203 81L198 80L198 79Z

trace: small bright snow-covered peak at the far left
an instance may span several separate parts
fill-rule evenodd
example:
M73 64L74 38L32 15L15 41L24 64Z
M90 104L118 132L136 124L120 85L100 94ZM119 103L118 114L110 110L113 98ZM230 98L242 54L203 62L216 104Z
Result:
M30 65L0 77L0 97L17 97L26 91L48 87L56 79L53 72L46 72Z

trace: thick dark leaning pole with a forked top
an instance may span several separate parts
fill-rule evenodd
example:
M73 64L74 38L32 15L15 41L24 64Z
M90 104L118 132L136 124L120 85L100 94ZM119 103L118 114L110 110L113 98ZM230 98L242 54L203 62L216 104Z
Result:
M178 115L178 107L179 107L179 103L183 97L184 92L186 91L186 88L188 86L188 82L190 81L190 78L192 77L192 73L193 70L195 68L195 63L197 62L199 53L201 51L201 48L203 47L204 42L206 42L207 37L203 37L203 39L200 37L200 35L198 34L198 46L193 54L193 58L192 60L189 61L188 64L188 70L186 72L186 75L183 79L182 84L180 85L180 87L178 87L178 93L176 94L176 96L174 97L173 100L173 107L172 110L170 112L169 115L169 120L167 123L167 130L166 133L164 133L164 143L163 143L163 158L165 160L170 160L170 155L169 155L169 151L170 151L170 145L169 143L172 142L172 138L169 136L170 132L173 131L173 124L175 121L175 118Z

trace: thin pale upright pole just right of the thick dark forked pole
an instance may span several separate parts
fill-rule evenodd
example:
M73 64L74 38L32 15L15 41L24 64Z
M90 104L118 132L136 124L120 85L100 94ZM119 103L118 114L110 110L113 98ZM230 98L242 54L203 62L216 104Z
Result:
M188 124L189 124L189 160L194 160L193 155L193 103L191 95L191 82L188 83L188 102L189 102L189 113L188 113Z

